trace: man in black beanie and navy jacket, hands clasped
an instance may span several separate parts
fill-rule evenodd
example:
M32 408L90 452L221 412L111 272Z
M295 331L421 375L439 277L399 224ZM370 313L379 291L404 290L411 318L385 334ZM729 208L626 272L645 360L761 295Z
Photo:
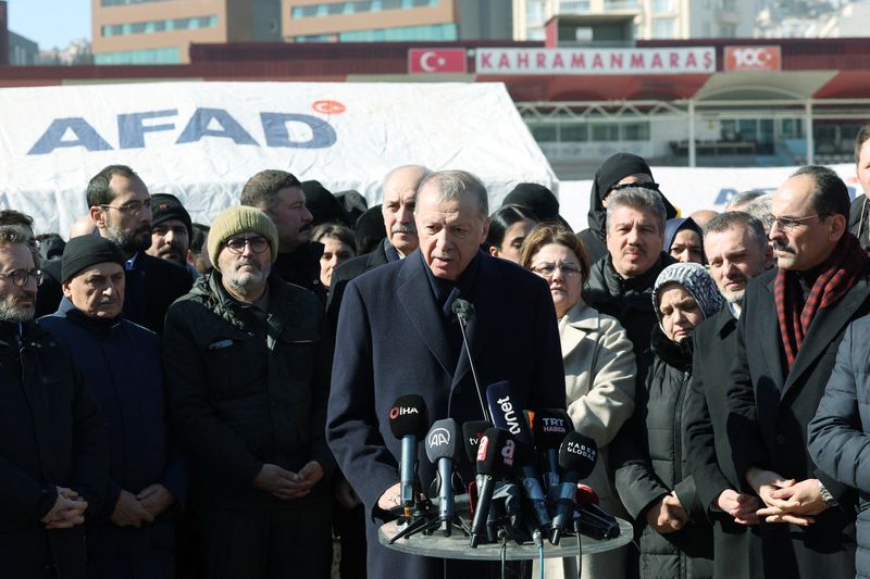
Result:
M169 579L187 464L170 445L158 337L121 314L124 256L113 241L71 239L61 272L64 298L39 326L82 369L111 449L103 508L87 521L88 576Z

